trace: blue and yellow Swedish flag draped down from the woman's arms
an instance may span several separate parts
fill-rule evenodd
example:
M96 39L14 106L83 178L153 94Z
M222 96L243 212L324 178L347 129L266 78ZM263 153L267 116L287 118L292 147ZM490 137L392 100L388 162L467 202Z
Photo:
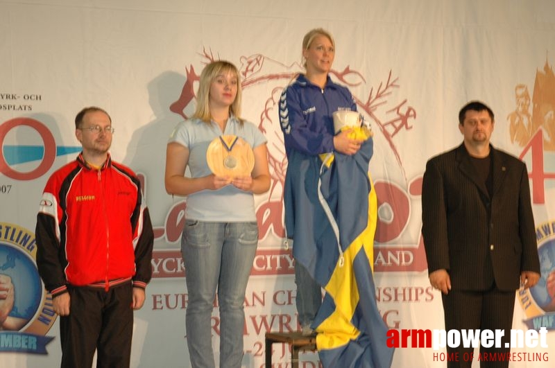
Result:
M301 167L295 170L296 175L305 176L300 181L305 184L314 183L318 175L316 191L306 185L296 191L306 194L304 199L296 198L298 206L305 207L303 201L310 206L296 208L297 217L303 213L308 218L298 217L296 222L293 256L325 289L312 325L318 332L316 344L324 367L382 368L390 367L393 360L393 349L386 346L387 327L375 301L377 200L368 174L372 155L370 138L356 155L318 159L317 172L314 157L305 157L304 174ZM315 205L315 195L319 205ZM309 207L311 213L306 213ZM298 237L302 247L296 246Z

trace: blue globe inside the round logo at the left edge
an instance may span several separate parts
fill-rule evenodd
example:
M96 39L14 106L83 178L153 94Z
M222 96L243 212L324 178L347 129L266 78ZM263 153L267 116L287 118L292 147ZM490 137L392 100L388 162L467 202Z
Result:
M42 283L31 257L22 249L0 243L0 274L12 278L15 298L10 316L33 318L42 299Z

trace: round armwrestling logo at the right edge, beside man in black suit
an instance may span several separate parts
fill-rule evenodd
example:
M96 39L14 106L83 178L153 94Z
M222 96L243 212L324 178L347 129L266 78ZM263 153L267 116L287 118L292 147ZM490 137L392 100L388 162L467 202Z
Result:
M532 288L520 290L518 299L528 317L527 327L539 330L555 329L555 220L540 224L536 229L540 257L540 281Z

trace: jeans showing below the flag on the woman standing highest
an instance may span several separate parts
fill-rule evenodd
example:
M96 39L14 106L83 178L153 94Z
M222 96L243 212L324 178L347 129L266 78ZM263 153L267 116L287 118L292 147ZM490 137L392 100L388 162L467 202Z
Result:
M312 279L308 270L295 262L295 283L297 296L295 299L299 324L302 327L310 326L322 304L322 290L320 285Z

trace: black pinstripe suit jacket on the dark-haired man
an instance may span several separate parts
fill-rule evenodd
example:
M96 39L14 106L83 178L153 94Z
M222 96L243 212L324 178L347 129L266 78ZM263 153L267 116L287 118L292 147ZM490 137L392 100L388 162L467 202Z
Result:
M490 196L464 144L429 159L422 180L422 236L428 272L445 268L452 290L520 286L540 272L526 165L490 146Z

